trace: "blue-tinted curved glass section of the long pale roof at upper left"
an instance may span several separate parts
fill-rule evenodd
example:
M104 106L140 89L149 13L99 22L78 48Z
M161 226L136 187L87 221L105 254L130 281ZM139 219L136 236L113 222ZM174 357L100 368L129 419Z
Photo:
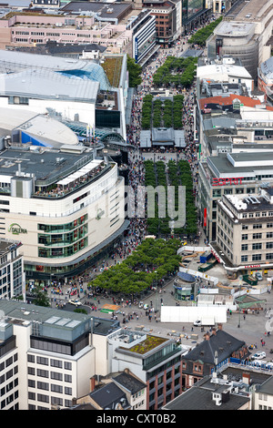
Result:
M87 64L84 68L62 70L58 71L58 73L70 78L94 80L95 82L99 82L101 90L111 89L105 70L102 66L99 66L99 64L96 63L90 62L90 64Z

